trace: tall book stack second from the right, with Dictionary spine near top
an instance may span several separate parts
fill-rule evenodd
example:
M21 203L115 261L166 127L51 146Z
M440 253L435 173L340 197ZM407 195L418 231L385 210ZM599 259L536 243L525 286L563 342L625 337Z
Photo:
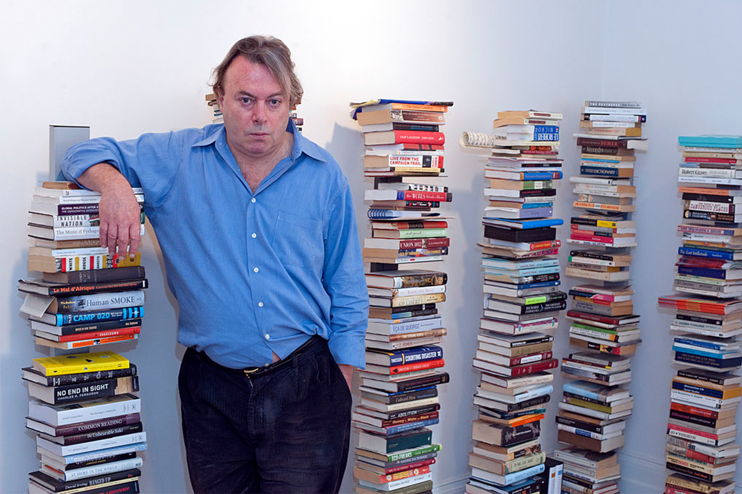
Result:
M635 101L585 101L575 134L580 176L570 182L580 214L571 218L565 275L585 281L569 291L569 342L579 350L562 358L562 375L575 381L563 385L557 415L559 441L575 446L559 453L568 457L563 485L570 493L618 492L614 450L623 446L634 407L620 385L631 381L631 356L641 341L628 267L636 247L634 151L647 148L644 121L646 110ZM592 456L601 467L574 461L588 452L605 453Z

